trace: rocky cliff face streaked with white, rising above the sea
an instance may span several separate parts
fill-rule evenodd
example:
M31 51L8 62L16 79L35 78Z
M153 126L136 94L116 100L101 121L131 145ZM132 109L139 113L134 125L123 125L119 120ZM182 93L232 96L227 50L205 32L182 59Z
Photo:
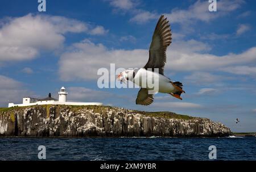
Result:
M106 106L33 106L0 109L2 136L229 136L221 123L172 112Z

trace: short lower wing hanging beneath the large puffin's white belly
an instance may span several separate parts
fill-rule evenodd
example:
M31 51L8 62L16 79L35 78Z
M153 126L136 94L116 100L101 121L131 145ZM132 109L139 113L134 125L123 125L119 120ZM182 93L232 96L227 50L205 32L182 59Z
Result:
M148 89L144 89L141 88L141 90L139 90L139 93L137 95L137 99L136 99L136 104L141 104L141 105L150 105L153 101L154 94L148 94Z

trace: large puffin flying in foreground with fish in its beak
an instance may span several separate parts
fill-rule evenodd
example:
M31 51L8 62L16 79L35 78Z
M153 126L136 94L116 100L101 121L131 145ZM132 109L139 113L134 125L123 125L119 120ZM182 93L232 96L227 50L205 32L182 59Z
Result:
M143 68L125 70L118 75L119 81L126 82L126 80L129 80L141 87L141 90L139 90L137 95L136 104L147 106L154 101L154 94L149 93L149 90L152 90L152 87L147 85L149 79L155 78L154 81L158 80L158 92L160 93L167 93L178 99L181 99L181 93L185 93L182 89L183 85L181 82L173 82L170 78L164 75L166 49L171 44L171 40L172 33L169 21L167 18L164 18L164 15L161 15L156 24L154 35L152 36L147 64ZM158 72L155 72L154 69L158 69ZM143 78L145 76L146 79Z

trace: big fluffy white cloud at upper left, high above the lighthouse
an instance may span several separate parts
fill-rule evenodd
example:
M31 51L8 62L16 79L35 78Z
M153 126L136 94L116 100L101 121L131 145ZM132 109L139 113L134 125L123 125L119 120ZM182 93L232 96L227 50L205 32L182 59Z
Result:
M104 28L62 16L28 14L8 18L0 26L0 61L30 60L40 50L59 49L67 32L102 34Z

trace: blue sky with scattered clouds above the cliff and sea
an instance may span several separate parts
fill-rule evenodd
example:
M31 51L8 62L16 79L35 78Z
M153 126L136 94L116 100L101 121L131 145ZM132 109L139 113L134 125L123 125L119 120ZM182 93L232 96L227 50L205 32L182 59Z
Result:
M220 121L234 132L256 131L256 2L1 1L0 106L23 96L103 102L144 111L174 111ZM157 94L135 104L139 89L99 89L99 68L139 68L148 60L161 14L171 23L165 74L183 82L183 100ZM240 123L234 123L236 118Z

